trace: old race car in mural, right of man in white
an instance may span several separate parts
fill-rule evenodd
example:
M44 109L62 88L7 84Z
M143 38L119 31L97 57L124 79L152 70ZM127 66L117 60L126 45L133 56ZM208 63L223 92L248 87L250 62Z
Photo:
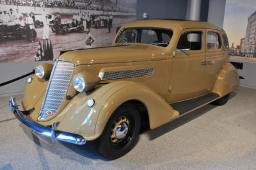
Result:
M83 24L79 23L75 19L62 22L60 24L60 29L59 29L59 33L62 34L62 35L67 35L67 33L70 33L70 32L83 33L83 31L84 31ZM55 24L54 24L54 26L52 26L52 32L54 32L54 33L56 32L56 25Z

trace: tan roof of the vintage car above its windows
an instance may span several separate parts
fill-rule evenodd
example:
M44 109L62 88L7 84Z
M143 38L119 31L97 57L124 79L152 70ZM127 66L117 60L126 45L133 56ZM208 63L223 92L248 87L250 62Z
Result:
M174 20L174 19L145 19L145 20L134 20L132 22L125 23L124 27L161 27L166 29L188 29L188 28L208 28L218 29L219 31L225 31L214 24L208 22L200 22L195 20Z

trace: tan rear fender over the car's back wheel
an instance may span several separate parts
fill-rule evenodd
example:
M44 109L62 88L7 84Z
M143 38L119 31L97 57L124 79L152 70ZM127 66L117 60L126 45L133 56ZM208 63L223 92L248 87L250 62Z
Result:
M215 82L213 93L223 97L239 86L239 75L231 63L225 63Z

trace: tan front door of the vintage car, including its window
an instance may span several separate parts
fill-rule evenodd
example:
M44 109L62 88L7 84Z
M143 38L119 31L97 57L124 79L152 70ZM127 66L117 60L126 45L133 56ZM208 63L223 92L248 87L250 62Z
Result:
M172 59L172 77L168 102L177 102L202 95L205 70L205 29L184 29L177 40Z

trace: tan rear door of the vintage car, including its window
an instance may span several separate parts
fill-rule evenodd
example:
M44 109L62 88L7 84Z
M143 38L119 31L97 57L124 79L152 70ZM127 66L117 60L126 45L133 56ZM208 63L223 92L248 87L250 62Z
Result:
M225 52L221 43L221 36L217 30L206 29L206 60L205 74L202 84L202 91L209 93L214 88L214 84L220 73L221 66L226 62Z

